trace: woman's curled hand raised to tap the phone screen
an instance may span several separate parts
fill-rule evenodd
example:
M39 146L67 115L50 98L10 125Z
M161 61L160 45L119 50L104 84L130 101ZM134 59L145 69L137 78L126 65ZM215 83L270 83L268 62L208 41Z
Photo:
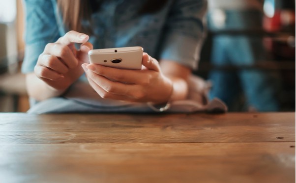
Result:
M88 62L88 52L92 50L89 36L69 31L55 43L48 43L34 67L35 75L52 88L65 91L83 73L81 65ZM75 43L80 43L76 50Z

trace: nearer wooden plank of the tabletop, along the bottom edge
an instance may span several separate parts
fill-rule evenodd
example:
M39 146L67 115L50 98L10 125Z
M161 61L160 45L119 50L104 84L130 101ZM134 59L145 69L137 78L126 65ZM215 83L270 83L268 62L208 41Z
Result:
M293 183L293 143L1 145L0 177L47 182ZM87 181L86 181L87 180Z

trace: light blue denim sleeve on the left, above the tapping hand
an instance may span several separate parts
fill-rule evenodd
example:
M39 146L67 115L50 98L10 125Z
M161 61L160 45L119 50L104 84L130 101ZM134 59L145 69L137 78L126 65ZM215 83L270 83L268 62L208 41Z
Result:
M24 5L26 47L22 72L30 73L46 44L59 38L59 30L51 0L24 0Z

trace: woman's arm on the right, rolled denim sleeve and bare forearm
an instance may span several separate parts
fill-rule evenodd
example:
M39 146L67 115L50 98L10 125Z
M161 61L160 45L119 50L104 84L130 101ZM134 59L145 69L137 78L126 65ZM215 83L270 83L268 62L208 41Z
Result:
M172 100L188 93L188 76L197 68L204 39L206 0L175 0L164 26L160 66L174 83Z

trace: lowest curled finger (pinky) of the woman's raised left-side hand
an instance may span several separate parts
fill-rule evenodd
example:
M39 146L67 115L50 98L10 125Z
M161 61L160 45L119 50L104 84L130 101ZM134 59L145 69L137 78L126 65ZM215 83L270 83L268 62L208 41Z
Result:
M50 80L59 80L64 78L63 75L43 66L35 66L34 73L38 78L45 78Z

